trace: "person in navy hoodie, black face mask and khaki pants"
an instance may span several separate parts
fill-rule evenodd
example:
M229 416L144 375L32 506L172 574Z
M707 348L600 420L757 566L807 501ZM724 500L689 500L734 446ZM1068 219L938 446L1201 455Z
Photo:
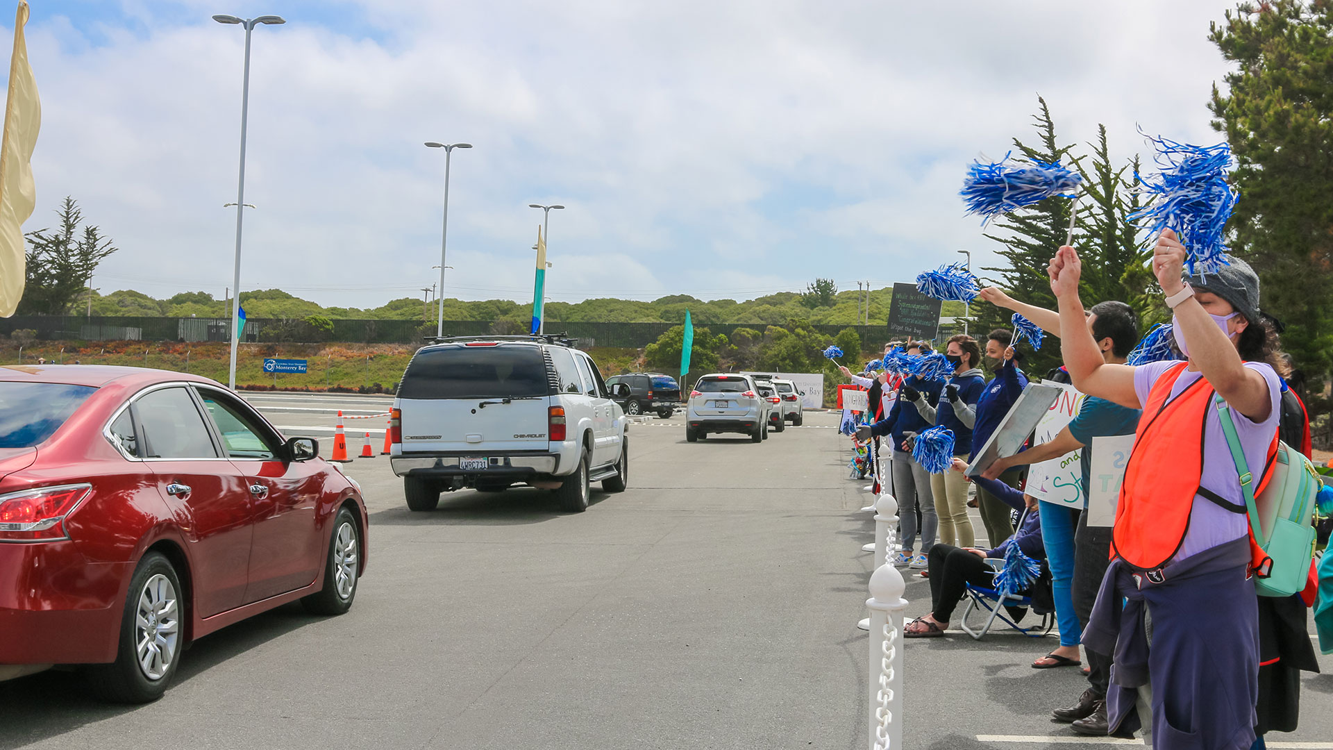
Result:
M949 339L944 355L953 364L953 376L944 384L938 407L921 398L914 388L904 388L902 398L926 422L953 431L953 455L972 455L972 426L977 420L977 400L985 390L985 380L977 363L981 347L966 334ZM972 547L976 534L968 518L968 480L957 471L945 470L930 475L930 494L934 511L940 516L940 542Z

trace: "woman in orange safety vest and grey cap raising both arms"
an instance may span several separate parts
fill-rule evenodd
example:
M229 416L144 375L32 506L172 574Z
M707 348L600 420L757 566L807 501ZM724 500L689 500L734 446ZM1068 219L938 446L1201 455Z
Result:
M1229 410L1248 464L1266 466L1285 364L1258 312L1254 271L1229 258L1186 276L1185 258L1173 231L1157 238L1153 274L1188 360L1137 367L1106 363L1086 332L1074 248L1061 247L1048 268L1074 387L1144 410L1116 507L1116 556L1084 643L1116 658L1112 734L1150 717L1154 747L1244 750L1256 739L1257 560L1220 410Z

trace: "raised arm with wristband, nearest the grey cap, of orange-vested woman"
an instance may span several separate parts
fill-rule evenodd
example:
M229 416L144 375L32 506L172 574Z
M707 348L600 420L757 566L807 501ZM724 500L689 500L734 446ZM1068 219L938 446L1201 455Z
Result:
M1184 270L1185 246L1176 239L1176 232L1165 230L1153 248L1153 272L1166 296L1185 288L1181 280ZM1172 310L1189 348L1190 364L1204 374L1217 395L1252 422L1268 419L1273 411L1273 395L1268 390L1268 380L1245 367L1236 344L1213 322L1197 295L1198 292ZM1230 330L1236 330L1236 326L1232 324Z

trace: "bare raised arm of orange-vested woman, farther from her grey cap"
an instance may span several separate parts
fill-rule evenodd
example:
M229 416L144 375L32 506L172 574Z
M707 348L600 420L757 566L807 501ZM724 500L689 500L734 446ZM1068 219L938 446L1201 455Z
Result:
M1068 335L1060 340L1060 354L1074 387L1090 395L1129 408L1142 408L1134 392L1134 368L1128 364L1108 364L1097 350L1097 342L1088 330L1088 315L1078 299L1078 276L1082 263L1074 248L1064 246L1050 259L1046 268L1050 291L1060 304L1060 327ZM1206 318L1206 315L1205 315Z

